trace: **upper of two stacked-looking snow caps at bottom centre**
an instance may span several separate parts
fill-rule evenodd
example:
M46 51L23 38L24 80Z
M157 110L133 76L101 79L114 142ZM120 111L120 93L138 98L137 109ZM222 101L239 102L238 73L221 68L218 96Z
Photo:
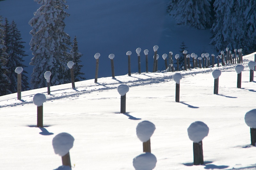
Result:
M136 127L136 134L141 142L147 142L153 135L156 127L155 125L147 120L140 122Z

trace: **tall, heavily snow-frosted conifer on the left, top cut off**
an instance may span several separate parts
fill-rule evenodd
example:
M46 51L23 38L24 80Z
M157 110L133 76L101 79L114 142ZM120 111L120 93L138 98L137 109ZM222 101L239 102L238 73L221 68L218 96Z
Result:
M66 0L35 0L42 6L34 12L29 21L32 27L30 34L30 50L34 57L30 65L34 66L31 74L31 89L46 86L44 73L51 71L51 84L58 85L70 82L67 66L72 56L67 51L71 45L70 36L65 33L64 19L69 16L64 9Z

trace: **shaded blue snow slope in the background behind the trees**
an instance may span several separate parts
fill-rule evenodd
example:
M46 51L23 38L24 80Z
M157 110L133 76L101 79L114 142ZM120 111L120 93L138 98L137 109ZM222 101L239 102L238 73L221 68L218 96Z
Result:
M79 52L84 65L82 71L87 79L94 78L94 54L101 54L99 63L99 77L111 75L108 55L115 54L115 73L124 75L128 72L127 51L132 51L131 70L138 72L138 59L135 50L140 47L148 49L149 70L153 69L153 46L158 45L158 53L173 51L179 53L180 43L185 42L188 52L200 54L214 53L209 45L210 30L196 30L191 27L177 26L175 21L166 13L168 0L67 0L70 16L65 20L65 31L71 40L77 36ZM29 56L25 58L28 66L31 54L29 42L32 29L28 21L40 7L33 0L5 0L0 2L0 15L11 22L14 20L26 42L25 51ZM145 71L145 55L141 52L141 70ZM159 70L164 70L164 60L158 64ZM30 77L33 67L26 68ZM30 78L29 78L30 79Z

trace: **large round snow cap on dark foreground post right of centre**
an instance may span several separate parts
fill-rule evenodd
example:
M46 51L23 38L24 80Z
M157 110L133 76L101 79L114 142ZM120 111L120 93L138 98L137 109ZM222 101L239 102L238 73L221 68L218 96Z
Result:
M204 139L209 133L208 126L201 121L196 121L188 127L188 137L194 143L198 143Z

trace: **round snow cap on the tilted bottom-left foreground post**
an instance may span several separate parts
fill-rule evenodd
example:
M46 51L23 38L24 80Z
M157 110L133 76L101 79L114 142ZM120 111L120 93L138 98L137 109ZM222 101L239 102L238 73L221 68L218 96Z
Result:
M60 133L52 139L52 146L55 154L66 155L73 147L74 137L68 133Z

